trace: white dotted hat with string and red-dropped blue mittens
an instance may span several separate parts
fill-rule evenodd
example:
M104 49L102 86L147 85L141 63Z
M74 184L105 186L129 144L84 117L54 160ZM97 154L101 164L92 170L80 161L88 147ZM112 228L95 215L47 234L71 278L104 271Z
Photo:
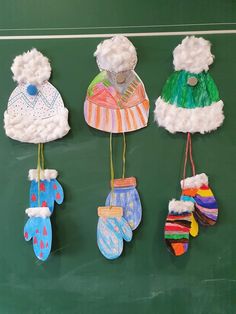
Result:
M64 194L56 180L57 171L44 169L43 143L69 132L68 110L58 90L48 82L51 66L41 52L32 49L15 57L11 70L18 86L8 100L4 127L14 140L38 144L37 169L29 171L32 182L24 237L26 241L32 239L35 255L45 261L52 245L50 216L54 202L61 204Z

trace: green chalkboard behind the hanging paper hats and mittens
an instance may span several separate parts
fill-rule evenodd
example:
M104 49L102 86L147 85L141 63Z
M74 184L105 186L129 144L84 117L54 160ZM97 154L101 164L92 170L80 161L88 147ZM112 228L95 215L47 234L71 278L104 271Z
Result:
M236 22L236 2L8 0L1 1L0 17L1 35L106 33L106 28L94 28L151 24L223 23L220 28L227 29L227 23ZM90 26L92 30L50 30ZM101 39L0 41L1 116L15 87L10 72L14 56L36 47L51 60L51 82L70 111L72 128L62 140L45 145L46 166L58 170L66 196L52 217L53 250L45 263L36 260L32 245L23 239L27 173L36 167L37 147L13 141L1 129L0 313L236 313L236 35L204 37L216 56L210 73L224 100L226 119L216 132L193 136L193 154L197 172L209 175L219 222L201 228L185 256L168 253L163 227L168 201L180 193L185 136L159 129L153 110L173 71L172 50L183 37L132 38L139 56L136 71L151 105L148 127L127 135L127 174L137 177L143 221L115 261L104 259L96 246L97 207L109 192L109 135L89 128L83 117L86 89L98 72L93 52ZM117 176L121 148L122 137L115 136Z

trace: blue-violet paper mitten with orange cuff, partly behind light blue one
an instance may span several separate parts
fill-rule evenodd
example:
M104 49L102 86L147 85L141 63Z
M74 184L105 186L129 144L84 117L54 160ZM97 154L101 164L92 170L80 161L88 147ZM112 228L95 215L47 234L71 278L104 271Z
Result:
M114 191L106 199L106 206L123 208L123 217L132 230L140 224L142 218L142 205L136 190L136 178L121 178L114 180Z

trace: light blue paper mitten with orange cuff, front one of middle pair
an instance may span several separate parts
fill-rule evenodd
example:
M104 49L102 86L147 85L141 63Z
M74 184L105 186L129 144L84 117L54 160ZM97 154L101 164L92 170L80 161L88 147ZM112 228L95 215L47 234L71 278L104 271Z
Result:
M122 215L121 207L98 207L97 244L107 259L118 258L123 251L123 240L132 239L132 230Z

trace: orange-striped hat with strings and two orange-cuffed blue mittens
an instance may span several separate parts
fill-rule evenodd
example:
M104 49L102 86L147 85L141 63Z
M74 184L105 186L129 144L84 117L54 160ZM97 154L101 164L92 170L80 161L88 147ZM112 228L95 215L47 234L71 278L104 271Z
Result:
M141 79L134 71L137 53L128 38L118 35L104 40L97 46L94 56L100 73L88 87L84 117L89 126L110 133L111 192L105 202L107 209L105 212L103 210L106 218L100 217L98 221L97 243L106 258L114 259L122 253L123 238L131 240L131 228L136 229L142 217L136 180L133 177L125 178L125 132L147 126L149 100ZM122 179L115 180L113 133L123 133ZM123 217L113 217L117 214L114 211L117 206L122 208ZM122 226L126 232L121 235L117 230Z

